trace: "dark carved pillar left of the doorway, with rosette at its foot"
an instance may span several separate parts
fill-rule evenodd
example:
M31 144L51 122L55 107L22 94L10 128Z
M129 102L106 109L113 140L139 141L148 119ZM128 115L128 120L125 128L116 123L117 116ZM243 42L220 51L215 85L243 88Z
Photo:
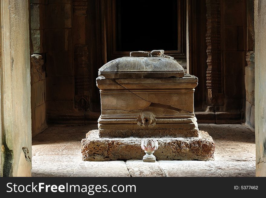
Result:
M75 73L75 108L90 105L90 76L86 45L87 0L73 0L73 46Z

